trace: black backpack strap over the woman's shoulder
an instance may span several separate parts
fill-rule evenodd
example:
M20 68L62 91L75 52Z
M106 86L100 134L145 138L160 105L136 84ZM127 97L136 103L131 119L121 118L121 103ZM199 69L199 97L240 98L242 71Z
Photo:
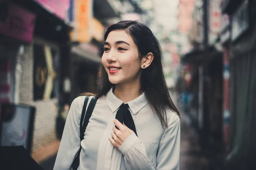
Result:
M85 99L84 99L84 106L83 106L81 119L80 119L80 141L82 141L84 139L84 133L85 133L86 127L89 123L89 119L90 119L90 117L93 113L93 109L94 109L98 99L93 96L93 98L91 99L91 101L89 103L87 111L86 111L88 100L89 100L89 97L86 96ZM85 111L86 111L86 114L85 114ZM81 149L82 149L82 147L81 147L81 144L80 144L79 151L77 152L77 155L76 155L76 157L73 161L73 164L72 164L73 170L77 170L77 168L79 167Z

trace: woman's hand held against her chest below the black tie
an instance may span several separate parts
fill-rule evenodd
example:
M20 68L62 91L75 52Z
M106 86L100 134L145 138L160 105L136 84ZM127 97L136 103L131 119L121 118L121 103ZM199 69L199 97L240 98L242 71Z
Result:
M120 123L117 119L114 119L114 124L119 130L114 126L113 132L111 133L112 137L108 138L108 140L118 149L125 139L127 139L131 133L134 133L134 131L125 126L125 124L122 125L122 123Z

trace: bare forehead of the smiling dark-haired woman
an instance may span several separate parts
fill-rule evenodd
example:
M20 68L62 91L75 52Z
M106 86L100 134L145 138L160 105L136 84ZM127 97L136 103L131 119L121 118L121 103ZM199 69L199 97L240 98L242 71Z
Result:
M130 45L134 43L131 36L123 30L111 31L108 34L106 42L115 43L116 41L125 41L128 42Z

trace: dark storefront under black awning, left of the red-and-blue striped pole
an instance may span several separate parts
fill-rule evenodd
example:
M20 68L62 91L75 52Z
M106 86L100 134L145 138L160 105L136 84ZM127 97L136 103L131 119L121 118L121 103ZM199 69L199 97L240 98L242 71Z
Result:
M212 46L186 54L182 62L191 67L187 87L191 101L187 113L200 134L201 146L215 144L219 149L222 142L222 53Z

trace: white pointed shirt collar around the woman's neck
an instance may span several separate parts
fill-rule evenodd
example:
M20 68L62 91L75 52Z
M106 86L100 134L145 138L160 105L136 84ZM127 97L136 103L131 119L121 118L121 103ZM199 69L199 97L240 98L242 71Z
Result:
M111 88L110 91L108 91L108 94L106 95L106 100L112 112L116 111L123 103L122 100L118 99L113 94L113 88ZM140 109L142 109L147 103L148 100L146 99L145 93L138 96L136 99L127 102L133 114L138 113Z

